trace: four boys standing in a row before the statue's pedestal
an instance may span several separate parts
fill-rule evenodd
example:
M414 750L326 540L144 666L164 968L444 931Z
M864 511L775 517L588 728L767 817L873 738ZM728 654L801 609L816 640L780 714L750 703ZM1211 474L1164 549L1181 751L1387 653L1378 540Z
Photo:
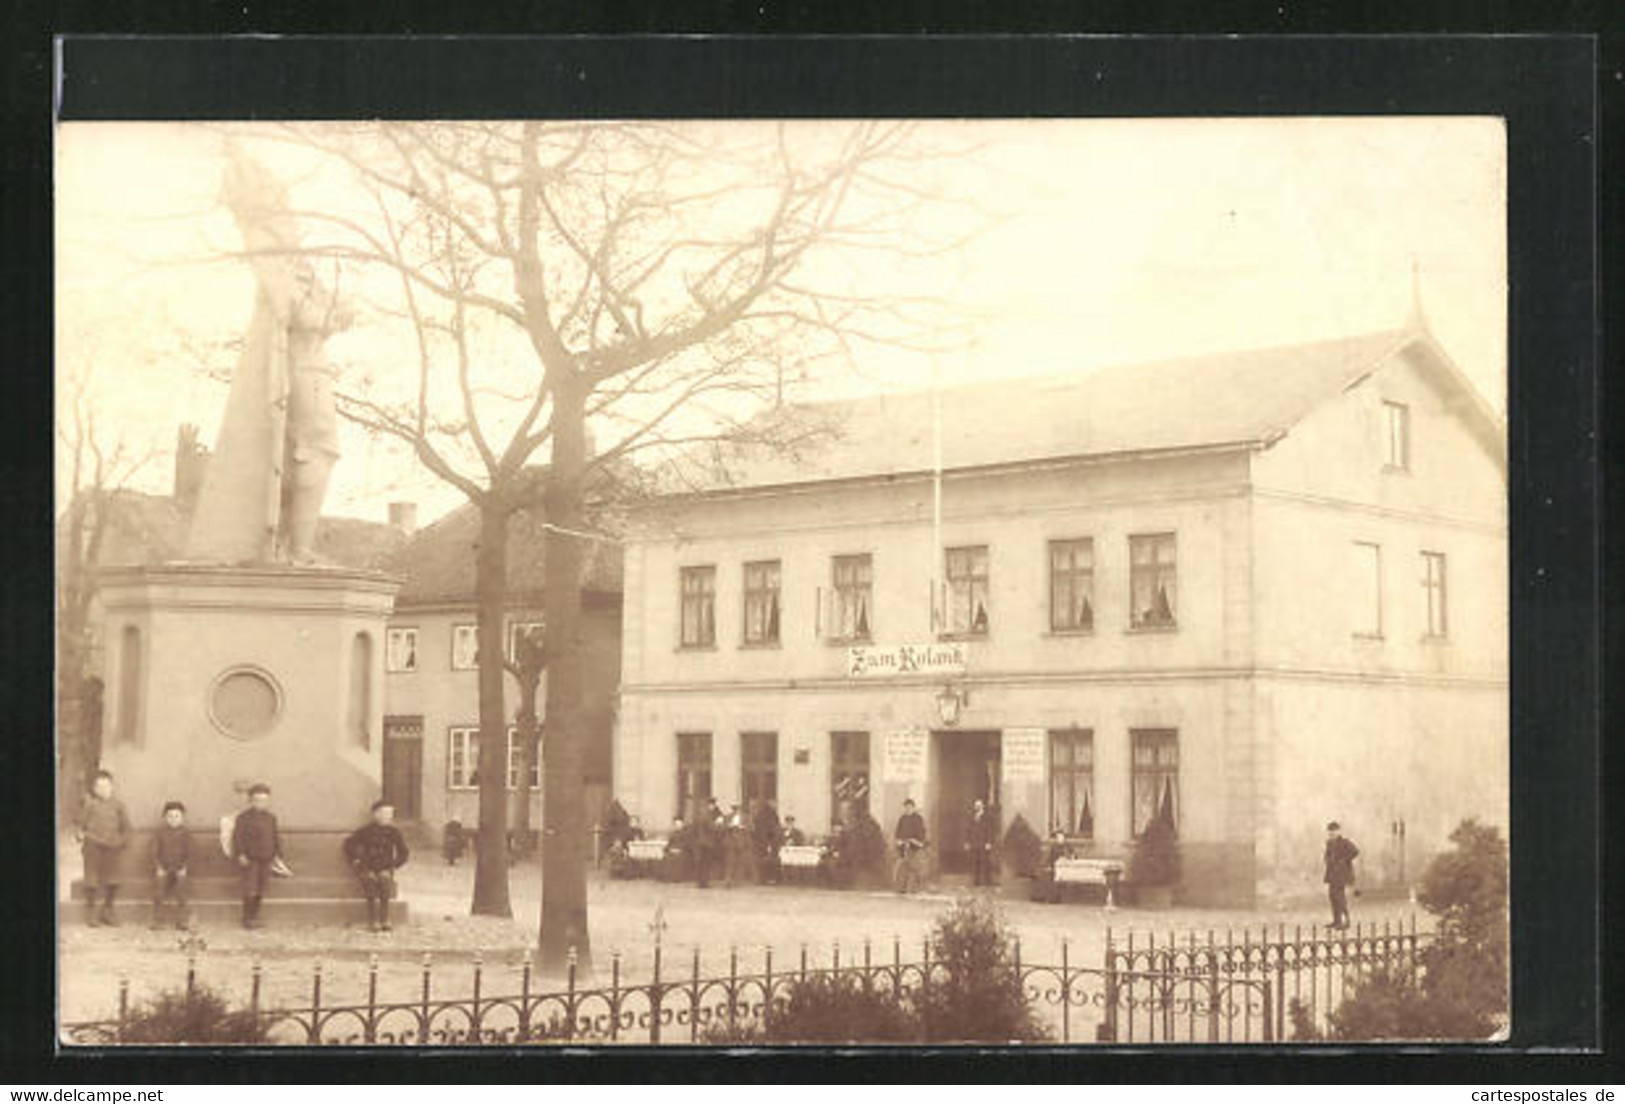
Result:
M231 818L229 836L223 831L223 850L239 868L242 886L242 927L260 928L265 891L273 876L289 878L283 862L283 841L276 815L271 811L271 787L255 782L249 787L249 805ZM390 930L390 901L395 898L395 871L410 855L406 839L393 824L395 808L372 803L370 819L344 837L343 854L367 902L367 925L374 932ZM114 777L98 771L75 821L75 837L84 860L86 922L91 927L117 927L115 899L122 881L125 850L133 836L130 813L114 793ZM151 927L192 925L193 841L187 828L187 806L167 800L162 823L148 844L148 868L153 871Z

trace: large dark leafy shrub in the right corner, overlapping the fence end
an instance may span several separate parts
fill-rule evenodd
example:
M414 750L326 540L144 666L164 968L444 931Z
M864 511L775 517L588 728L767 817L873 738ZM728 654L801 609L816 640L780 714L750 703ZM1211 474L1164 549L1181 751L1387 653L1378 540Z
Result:
M1485 1039L1506 1015L1506 842L1462 821L1428 863L1417 899L1436 917L1410 971L1378 969L1331 1015L1337 1039Z

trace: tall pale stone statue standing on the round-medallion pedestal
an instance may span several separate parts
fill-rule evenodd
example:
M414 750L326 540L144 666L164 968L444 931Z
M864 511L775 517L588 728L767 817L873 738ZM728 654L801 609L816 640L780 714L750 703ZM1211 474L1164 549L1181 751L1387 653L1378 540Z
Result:
M351 325L309 257L284 189L228 148L221 202L254 268L254 315L226 416L187 533L187 559L312 564L317 519L338 460L328 337ZM336 285L336 280L335 280Z

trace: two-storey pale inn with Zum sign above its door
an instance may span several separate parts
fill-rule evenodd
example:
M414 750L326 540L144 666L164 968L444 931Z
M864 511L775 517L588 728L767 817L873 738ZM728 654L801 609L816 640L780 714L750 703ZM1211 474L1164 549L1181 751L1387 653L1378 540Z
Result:
M822 831L970 802L1183 898L1320 880L1324 823L1402 883L1506 823L1498 419L1420 325L821 405L624 550L616 793L663 824L772 797Z

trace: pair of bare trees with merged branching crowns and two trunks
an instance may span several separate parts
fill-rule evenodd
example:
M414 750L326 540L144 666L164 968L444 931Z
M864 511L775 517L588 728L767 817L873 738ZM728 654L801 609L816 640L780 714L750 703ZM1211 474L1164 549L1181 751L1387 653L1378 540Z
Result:
M476 914L510 915L507 537L517 511L543 512L541 963L557 967L572 948L590 963L580 582L593 499L639 454L670 468L717 439L796 447L817 431L759 415L822 361L850 361L860 343L941 343L939 304L876 294L861 272L938 247L918 247L910 219L936 198L921 167L944 154L895 122L327 124L242 137L314 150L359 184L364 203L297 211L312 231L302 252L353 270L346 288L380 325L405 324L413 367L361 372L340 410L479 511Z

